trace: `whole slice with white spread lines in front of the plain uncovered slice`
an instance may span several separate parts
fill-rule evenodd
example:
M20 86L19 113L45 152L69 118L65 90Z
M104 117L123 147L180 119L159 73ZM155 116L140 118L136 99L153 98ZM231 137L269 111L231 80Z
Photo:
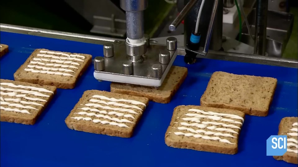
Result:
M234 109L179 105L165 133L174 148L236 154L245 114Z

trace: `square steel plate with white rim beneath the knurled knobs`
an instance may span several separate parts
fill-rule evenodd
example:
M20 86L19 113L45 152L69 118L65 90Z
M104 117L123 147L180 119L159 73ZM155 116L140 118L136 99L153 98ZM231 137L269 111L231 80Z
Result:
M167 50L166 46L151 44L150 47L147 48L146 54L143 55L144 61L133 63L133 68L128 69L128 67L125 66L125 63L131 56L126 55L125 41L115 41L113 46L114 56L104 58L104 70L94 71L94 77L97 80L159 87L163 83L178 53L177 48L175 50ZM170 60L169 63L162 64L160 63L160 52L164 53L165 51L169 52ZM155 64L160 64L162 67L161 75L160 72L156 71ZM127 71L130 71L131 69L133 70L133 73L129 74L130 72ZM124 74L123 71L126 74Z

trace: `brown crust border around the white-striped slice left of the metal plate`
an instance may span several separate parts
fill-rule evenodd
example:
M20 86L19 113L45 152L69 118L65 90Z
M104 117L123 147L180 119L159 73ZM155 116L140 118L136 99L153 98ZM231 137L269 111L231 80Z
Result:
M61 89L72 89L75 88L76 82L79 80L79 78L83 75L83 73L87 70L89 65L92 62L92 56L89 54L80 54L84 55L86 58L84 59L83 64L79 67L77 73L75 74L74 77L71 77L69 81L62 81L62 79L53 79L52 75L50 74L37 74L35 77L28 74L24 74L24 69L26 66L32 61L33 56L38 54L40 50L47 50L47 51L52 51L48 49L36 49L26 60L24 64L22 64L19 69L14 73L14 79L16 81L21 81L21 82L29 82L29 83L35 83L35 84L40 84L40 85L51 85L51 86L56 86L57 88ZM68 52L63 52L66 54L71 54ZM40 76L47 76L46 77L40 77ZM62 76L61 76L62 77ZM63 76L64 77L64 76ZM65 76L68 77L68 76Z

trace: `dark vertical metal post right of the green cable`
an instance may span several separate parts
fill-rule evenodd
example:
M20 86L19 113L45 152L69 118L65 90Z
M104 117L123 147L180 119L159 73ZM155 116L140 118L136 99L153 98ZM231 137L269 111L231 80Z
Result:
M255 48L254 54L266 55L267 48L267 11L268 0L257 0L255 14Z

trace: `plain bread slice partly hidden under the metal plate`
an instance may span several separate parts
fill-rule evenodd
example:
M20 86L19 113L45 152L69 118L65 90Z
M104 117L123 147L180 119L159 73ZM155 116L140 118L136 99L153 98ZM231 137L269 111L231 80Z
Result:
M187 76L187 68L172 66L159 88L111 83L111 92L147 97L157 103L169 103Z

